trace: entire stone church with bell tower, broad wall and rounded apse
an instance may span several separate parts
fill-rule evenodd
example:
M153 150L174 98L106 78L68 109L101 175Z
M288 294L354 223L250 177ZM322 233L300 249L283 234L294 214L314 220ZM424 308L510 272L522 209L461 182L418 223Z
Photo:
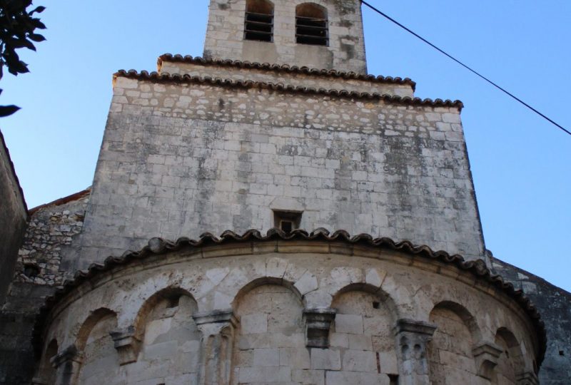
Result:
M211 0L202 58L114 75L92 187L28 211L0 384L571 384L571 294L485 249L463 104L414 91L359 0Z

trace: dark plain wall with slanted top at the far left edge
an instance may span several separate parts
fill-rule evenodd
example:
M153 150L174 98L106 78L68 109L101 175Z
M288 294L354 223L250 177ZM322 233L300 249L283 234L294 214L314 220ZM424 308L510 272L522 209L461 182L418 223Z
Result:
M0 307L14 274L27 219L26 202L0 132Z

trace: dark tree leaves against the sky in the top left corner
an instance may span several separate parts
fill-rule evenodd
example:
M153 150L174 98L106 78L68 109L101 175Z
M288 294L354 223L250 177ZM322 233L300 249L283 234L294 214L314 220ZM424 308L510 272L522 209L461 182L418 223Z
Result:
M36 51L34 43L46 40L44 36L36 34L36 29L46 29L46 26L34 17L34 14L41 14L46 8L37 6L26 11L31 4L31 0L0 0L0 79L4 76L4 66L14 76L29 72L28 65L20 60L16 50L27 48ZM16 106L0 106L0 117L18 110Z

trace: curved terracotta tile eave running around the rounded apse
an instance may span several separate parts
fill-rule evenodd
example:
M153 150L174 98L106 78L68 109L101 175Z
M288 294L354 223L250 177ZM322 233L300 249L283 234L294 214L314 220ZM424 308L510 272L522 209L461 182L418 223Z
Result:
M359 234L351 237L345 230L338 230L330 233L328 230L319 228L313 232L305 230L294 230L290 233L285 233L279 229L268 230L266 235L262 235L258 230L248 230L243 235L238 235L236 232L227 230L222 233L220 237L216 237L210 232L201 235L198 240L191 240L187 237L178 238L176 241L163 240L161 238L152 238L148 241L148 245L141 250L133 252L127 251L121 257L107 257L103 264L92 264L87 270L76 272L74 279L64 282L62 287L56 290L54 295L47 297L44 306L41 307L36 325L34 327L34 344L36 349L39 348L41 340L41 332L44 328L44 322L50 310L63 299L66 294L69 294L75 287L89 281L92 277L98 274L112 270L114 267L128 265L130 262L144 260L146 257L153 255L163 255L168 252L181 250L184 247L204 247L209 245L223 245L231 242L267 242L273 240L315 240L327 242L346 242L353 245L365 245L369 247L384 247L389 250L396 250L400 252L407 252L410 255L424 257L430 260L438 260L446 264L455 265L460 270L472 273L477 279L482 279L489 282L497 289L501 290L508 297L512 298L520 305L523 311L532 320L537 337L539 338L539 354L537 357L538 365L543 361L545 356L545 349L547 347L547 334L545 331L545 324L543 323L539 312L531 300L525 296L521 289L515 289L514 285L507 280L503 279L500 275L493 274L488 269L483 260L466 261L461 255L450 255L445 251L434 251L426 245L416 246L407 240L395 242L388 237L373 238L368 234Z

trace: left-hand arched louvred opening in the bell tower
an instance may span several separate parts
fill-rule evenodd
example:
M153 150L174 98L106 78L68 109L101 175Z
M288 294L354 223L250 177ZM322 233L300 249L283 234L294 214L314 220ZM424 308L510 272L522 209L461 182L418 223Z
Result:
M244 39L273 41L273 4L268 0L248 0L244 18Z

